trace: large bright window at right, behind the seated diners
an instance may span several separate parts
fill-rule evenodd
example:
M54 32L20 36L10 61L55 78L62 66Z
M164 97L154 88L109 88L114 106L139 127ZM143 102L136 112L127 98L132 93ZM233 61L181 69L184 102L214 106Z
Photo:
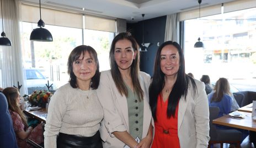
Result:
M186 73L211 82L228 78L240 91L256 91L256 8L185 20ZM204 48L194 48L198 37Z

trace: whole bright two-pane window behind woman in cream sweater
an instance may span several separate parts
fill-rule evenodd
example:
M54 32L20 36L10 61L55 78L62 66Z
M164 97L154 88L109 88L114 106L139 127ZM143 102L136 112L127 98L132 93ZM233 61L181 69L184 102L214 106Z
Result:
M22 22L20 28L24 67L40 70L47 78L44 80L45 84L49 80L54 83L54 89L66 84L69 80L68 56L74 47L82 45L83 39L84 45L92 46L97 51L100 71L110 69L109 50L114 32L46 25L45 28L51 32L54 41L33 42L29 37L31 30L37 28L37 24ZM28 80L27 85L29 85Z

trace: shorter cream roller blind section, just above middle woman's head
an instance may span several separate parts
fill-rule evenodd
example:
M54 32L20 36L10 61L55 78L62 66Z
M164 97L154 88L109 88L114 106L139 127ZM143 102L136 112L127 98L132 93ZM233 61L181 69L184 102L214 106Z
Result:
M84 17L84 28L91 30L100 30L115 32L116 25L115 20L95 17L92 15L85 15Z

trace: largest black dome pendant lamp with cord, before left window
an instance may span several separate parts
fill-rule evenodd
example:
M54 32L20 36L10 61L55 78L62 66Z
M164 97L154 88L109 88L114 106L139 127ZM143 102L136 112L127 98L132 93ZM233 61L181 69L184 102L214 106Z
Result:
M41 42L52 42L51 32L43 28L45 26L45 23L41 19L41 0L39 0L39 8L40 8L40 20L38 21L38 26L40 28L33 29L33 31L30 34L30 40L41 41Z

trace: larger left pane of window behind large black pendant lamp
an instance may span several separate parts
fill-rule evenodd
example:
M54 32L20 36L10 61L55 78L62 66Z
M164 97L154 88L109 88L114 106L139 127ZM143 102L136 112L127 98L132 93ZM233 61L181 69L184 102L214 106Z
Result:
M46 25L53 36L53 42L30 41L31 31L38 28L35 23L20 23L22 53L25 69L36 69L34 78L44 77L38 86L45 86L47 80L54 89L67 83L67 60L74 47L82 45L82 29ZM28 79L28 78L27 78ZM33 80L36 83L38 80ZM27 81L28 87L30 83ZM33 86L35 87L35 86Z

